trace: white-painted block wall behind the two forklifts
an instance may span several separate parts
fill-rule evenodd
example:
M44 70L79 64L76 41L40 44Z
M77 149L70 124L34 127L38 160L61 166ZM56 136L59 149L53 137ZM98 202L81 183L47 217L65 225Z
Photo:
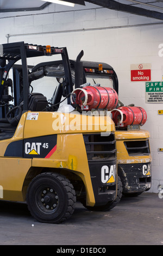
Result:
M151 133L153 156L149 192L158 193L158 186L163 184L163 152L158 151L158 148L163 148L163 118L158 115L158 110L163 109L163 105L145 102L145 82L130 82L130 64L138 63L151 63L152 81L162 81L163 57L158 56L158 46L163 44L162 25L133 27L153 22L159 21L90 3L86 3L86 7L76 5L74 8L51 4L33 13L1 14L0 39L1 43L7 42L5 35L9 34L9 42L66 46L72 59L84 50L83 59L113 66L119 80L120 100L125 105L134 103L147 111L148 119L143 129ZM30 59L29 64L37 61Z

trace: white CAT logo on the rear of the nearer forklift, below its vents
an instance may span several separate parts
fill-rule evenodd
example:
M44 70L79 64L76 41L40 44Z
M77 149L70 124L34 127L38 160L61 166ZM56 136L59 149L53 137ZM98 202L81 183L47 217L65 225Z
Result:
M115 182L116 176L116 164L108 167L103 166L101 168L101 181L103 184Z

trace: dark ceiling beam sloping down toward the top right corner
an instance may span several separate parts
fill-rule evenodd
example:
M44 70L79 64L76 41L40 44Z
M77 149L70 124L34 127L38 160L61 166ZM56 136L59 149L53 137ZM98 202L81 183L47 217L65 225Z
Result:
M146 10L140 7L135 7L129 4L122 4L120 2L116 2L114 0L86 0L85 2L97 4L104 8L108 8L111 10L124 11L125 13L131 13L135 15L150 17L157 20L163 20L163 13L159 13L158 11ZM161 1L162 2L162 1Z

